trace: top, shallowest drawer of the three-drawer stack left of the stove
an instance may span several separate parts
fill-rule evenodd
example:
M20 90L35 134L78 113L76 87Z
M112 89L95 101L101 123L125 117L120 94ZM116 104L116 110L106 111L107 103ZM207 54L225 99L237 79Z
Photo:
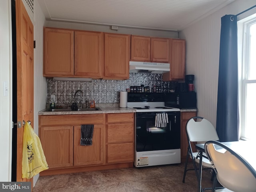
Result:
M134 122L134 113L111 113L107 114L108 123Z

